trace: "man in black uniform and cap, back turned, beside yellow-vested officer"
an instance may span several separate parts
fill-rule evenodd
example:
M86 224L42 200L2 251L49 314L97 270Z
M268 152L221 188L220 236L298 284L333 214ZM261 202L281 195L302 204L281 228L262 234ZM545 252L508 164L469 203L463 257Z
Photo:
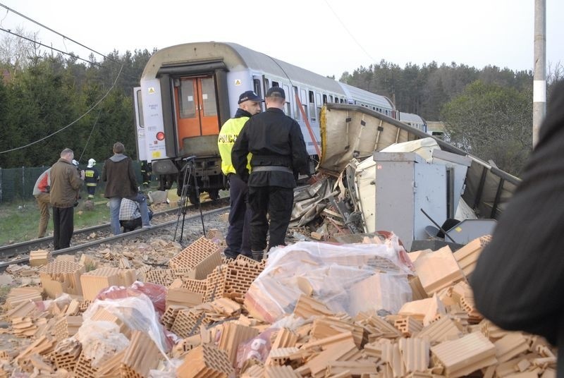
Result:
M248 181L251 217L251 252L261 260L269 233L269 250L286 245L286 230L292 214L295 178L307 173L308 156L300 125L284 114L286 93L280 87L266 92L266 111L245 123L231 159L235 171ZM247 154L251 152L251 173ZM270 216L270 225L266 219Z

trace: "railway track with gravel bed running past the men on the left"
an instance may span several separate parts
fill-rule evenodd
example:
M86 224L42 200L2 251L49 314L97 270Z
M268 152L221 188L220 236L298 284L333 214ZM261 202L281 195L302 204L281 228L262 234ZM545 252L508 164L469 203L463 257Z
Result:
M229 198L221 198L215 202L202 202L202 216L209 217L210 215L217 214L218 212L228 211ZM223 205L223 206L221 206ZM220 207L218 207L220 206ZM185 222L200 219L200 210L195 205L191 205L185 214ZM110 224L100 224L87 228L81 228L73 233L73 243L76 245L62 250L52 252L52 255L72 255L80 250L92 248L102 243L118 243L121 240L128 238L137 238L143 234L154 233L159 229L176 226L178 220L182 224L183 216L178 217L178 208L169 209L164 212L155 213L153 216L152 228L140 228L128 233L121 233L120 235L112 235L110 232ZM180 233L180 227L178 228ZM10 264L25 264L29 262L29 253L32 250L38 249L52 249L52 238L42 238L35 240L28 240L22 243L12 245L4 245L0 247L0 272L4 272L6 267Z

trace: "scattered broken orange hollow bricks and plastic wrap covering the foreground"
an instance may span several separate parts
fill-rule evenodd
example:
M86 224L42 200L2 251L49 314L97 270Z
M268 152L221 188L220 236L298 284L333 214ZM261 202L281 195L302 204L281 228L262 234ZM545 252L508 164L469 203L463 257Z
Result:
M556 376L544 339L474 307L487 236L455 253L406 253L393 234L300 242L262 262L227 260L209 237L8 269L41 286L6 296L5 331L25 342L0 344L0 377ZM147 264L157 255L168 265Z

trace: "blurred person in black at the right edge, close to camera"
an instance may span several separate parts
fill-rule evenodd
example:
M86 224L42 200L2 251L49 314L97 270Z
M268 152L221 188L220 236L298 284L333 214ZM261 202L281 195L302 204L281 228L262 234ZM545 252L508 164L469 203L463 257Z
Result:
M564 346L564 83L553 91L523 181L472 273L476 305L499 327ZM558 353L564 377L564 353Z

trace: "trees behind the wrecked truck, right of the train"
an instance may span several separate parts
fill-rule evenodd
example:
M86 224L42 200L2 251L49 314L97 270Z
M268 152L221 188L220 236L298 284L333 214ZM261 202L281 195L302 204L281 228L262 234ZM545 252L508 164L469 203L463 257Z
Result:
M548 98L563 76L560 62L548 66ZM448 142L516 176L532 151L532 71L454 62L401 68L383 60L340 80L388 97L400 111L442 121Z

